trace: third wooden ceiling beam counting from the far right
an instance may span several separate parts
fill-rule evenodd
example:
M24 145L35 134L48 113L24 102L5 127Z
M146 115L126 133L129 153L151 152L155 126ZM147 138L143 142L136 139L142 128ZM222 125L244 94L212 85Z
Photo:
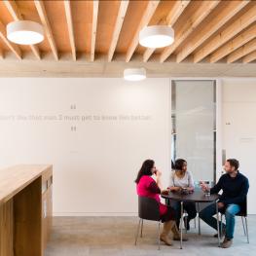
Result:
M215 53L210 55L210 62L215 63L219 59L223 58L226 55L230 55L236 51L239 47L242 47L252 39L256 37L256 24L246 29L244 32L239 34L233 40L229 41L223 47L218 49ZM228 61L229 62L229 61Z

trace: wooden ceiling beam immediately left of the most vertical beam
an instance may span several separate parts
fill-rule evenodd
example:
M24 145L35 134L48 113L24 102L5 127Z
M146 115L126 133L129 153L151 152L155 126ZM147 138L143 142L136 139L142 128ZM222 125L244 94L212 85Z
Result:
M71 52L72 52L73 59L76 60L77 54L76 54L75 36L74 36L70 1L65 0L63 2L64 2L64 8L65 8L65 15L66 15L66 21L67 21L67 29L68 29L70 46L71 46Z

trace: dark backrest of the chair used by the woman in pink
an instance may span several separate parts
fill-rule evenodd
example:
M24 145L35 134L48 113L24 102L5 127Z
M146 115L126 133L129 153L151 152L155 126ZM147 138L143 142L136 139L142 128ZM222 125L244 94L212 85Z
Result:
M160 220L159 202L146 197L138 196L138 216L145 220Z

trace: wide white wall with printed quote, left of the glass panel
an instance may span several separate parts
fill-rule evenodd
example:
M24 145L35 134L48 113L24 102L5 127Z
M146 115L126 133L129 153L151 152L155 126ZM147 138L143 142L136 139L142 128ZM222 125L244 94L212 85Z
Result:
M55 215L132 214L145 159L167 185L168 117L169 79L0 79L0 167L53 164Z

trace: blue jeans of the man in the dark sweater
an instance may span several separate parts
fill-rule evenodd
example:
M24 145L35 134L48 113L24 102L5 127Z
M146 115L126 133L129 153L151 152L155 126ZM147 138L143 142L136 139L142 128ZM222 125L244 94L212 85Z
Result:
M235 216L240 211L238 204L229 204L225 209L226 225L223 224L223 229L226 229L226 238L234 238ZM200 212L200 218L210 227L217 230L217 220L213 217L216 214L215 202L205 207ZM221 225L221 224L220 224ZM221 226L220 226L221 229Z

